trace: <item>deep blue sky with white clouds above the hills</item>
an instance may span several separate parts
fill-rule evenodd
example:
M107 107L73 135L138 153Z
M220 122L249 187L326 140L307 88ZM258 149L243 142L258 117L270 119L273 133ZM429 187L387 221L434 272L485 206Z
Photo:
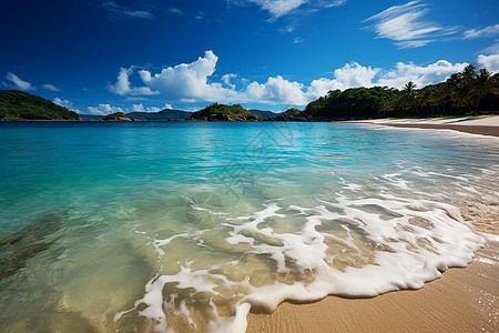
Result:
M0 3L0 89L86 114L281 112L499 71L497 0L17 0Z

